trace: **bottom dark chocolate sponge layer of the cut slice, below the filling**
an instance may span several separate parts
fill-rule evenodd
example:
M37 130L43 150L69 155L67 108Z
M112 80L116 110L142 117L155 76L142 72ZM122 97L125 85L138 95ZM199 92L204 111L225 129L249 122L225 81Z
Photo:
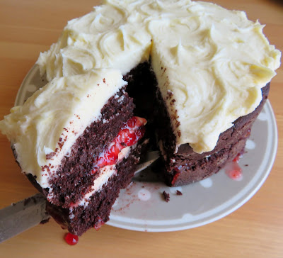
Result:
M125 188L132 179L137 163L139 162L139 152L141 145L131 151L127 159L123 159L117 164L117 174L110 177L108 184L93 194L88 206L78 206L74 208L59 208L47 203L47 212L69 232L74 235L82 235L90 228L100 228L109 220L111 207L120 193L120 189Z

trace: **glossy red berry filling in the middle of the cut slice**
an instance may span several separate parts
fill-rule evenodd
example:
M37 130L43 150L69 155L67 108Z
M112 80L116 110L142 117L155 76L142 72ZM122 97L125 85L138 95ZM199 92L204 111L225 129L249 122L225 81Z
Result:
M96 173L101 167L116 164L122 149L132 146L144 136L146 119L133 116L121 128L115 140L107 150L104 150L94 162L92 173Z

